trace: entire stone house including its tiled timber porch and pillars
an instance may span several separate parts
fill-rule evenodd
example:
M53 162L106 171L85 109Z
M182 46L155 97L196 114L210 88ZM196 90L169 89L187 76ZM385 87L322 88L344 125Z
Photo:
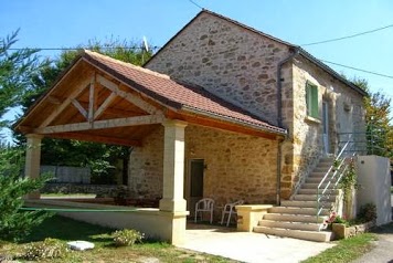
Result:
M301 48L203 10L145 69L83 52L15 128L32 178L44 136L132 146L128 188L159 208L77 217L176 244L203 197L216 219L231 201L289 199L363 126L364 95Z

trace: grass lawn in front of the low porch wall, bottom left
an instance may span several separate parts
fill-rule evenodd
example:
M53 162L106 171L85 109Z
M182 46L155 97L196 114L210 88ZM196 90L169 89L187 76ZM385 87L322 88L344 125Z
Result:
M22 242L0 243L0 255L23 253L23 246L29 242L54 238L66 241L85 240L93 242L91 251L72 251L67 257L40 262L235 262L229 259L213 256L192 251L181 250L160 242L145 242L127 248L115 248L110 233L114 230L63 217L53 217L43 222L40 228ZM18 259L17 260L21 260Z

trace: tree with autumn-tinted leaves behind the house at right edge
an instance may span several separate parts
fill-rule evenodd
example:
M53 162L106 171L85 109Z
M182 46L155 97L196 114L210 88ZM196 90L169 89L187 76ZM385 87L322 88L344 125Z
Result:
M369 93L364 97L368 154L392 158L391 98L381 92L372 93L365 80L354 78L353 83Z

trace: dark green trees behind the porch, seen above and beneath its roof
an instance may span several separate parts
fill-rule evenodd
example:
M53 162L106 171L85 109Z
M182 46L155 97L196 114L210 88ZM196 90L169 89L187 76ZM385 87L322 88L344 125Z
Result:
M88 41L88 49L111 56L114 59L141 65L152 53L135 43L110 39L107 43L97 40ZM22 108L25 112L47 88L50 88L61 72L63 72L78 51L63 51L51 63L41 67L40 74L33 78L34 88L29 90L23 96ZM19 144L24 144L24 138L15 134ZM110 171L115 162L123 160L124 173L127 172L129 147L94 144L88 141L44 138L42 141L42 164L56 166L79 166L92 168L92 182L111 183Z

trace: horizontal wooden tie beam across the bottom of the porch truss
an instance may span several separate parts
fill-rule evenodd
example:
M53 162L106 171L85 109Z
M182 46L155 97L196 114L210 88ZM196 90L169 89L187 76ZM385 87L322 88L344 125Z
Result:
M106 120L96 120L87 123L77 123L77 124L64 124L56 126L47 126L43 128L38 128L34 132L38 134L59 134L59 133L71 133L88 129L106 129L106 128L116 128L125 126L138 126L138 125L150 125L150 124L160 124L164 119L163 115L146 115L146 116L136 116L128 118L115 118Z

